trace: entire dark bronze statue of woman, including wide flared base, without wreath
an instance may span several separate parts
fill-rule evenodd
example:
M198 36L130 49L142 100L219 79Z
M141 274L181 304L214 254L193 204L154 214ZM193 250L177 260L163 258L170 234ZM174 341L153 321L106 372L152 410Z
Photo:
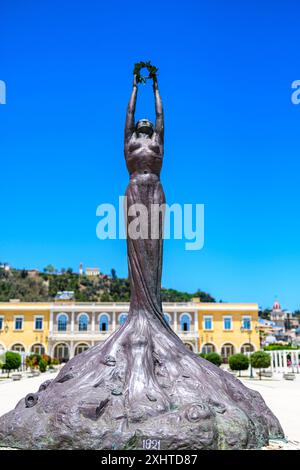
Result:
M128 207L163 204L163 107L154 74L155 126L135 123L134 77L125 124ZM128 231L131 216L127 217ZM104 344L0 418L0 446L22 449L253 449L283 431L259 393L186 349L164 320L158 236L127 237L131 303Z

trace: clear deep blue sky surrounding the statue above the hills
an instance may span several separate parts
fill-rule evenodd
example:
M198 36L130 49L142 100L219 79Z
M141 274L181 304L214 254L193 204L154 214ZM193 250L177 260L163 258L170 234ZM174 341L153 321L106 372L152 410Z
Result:
M96 238L96 207L125 191L132 68L151 60L167 201L205 204L204 248L166 241L163 285L300 307L296 1L28 0L1 10L0 260L127 275L125 241ZM140 89L144 116L150 86Z

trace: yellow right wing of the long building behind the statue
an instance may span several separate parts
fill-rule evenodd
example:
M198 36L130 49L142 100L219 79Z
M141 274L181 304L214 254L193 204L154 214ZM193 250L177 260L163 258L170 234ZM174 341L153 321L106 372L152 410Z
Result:
M198 303L199 350L218 352L223 359L260 349L258 305Z

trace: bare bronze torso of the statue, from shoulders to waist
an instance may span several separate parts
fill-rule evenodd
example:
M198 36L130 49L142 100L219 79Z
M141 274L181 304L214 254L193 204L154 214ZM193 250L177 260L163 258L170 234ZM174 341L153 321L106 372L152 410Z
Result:
M162 167L163 144L158 134L151 138L134 133L125 143L125 157L129 174L154 173L159 176Z

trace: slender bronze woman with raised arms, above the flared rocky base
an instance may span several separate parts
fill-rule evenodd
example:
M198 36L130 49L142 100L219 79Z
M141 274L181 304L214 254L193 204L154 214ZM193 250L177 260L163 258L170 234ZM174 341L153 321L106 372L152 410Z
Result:
M156 122L153 126L148 119L135 123L137 100L137 79L134 75L133 90L129 100L126 122L124 151L130 182L126 190L127 207L143 204L147 209L147 227L141 227L141 237L132 239L127 231L129 278L131 285L130 315L141 312L163 320L160 288L162 271L162 230L163 217L151 220L151 207L165 203L160 182L164 151L164 115L156 77L153 79ZM128 225L131 221L127 217ZM158 224L158 237L151 239L153 224ZM142 238L142 234L146 238ZM155 233L155 230L153 231Z

